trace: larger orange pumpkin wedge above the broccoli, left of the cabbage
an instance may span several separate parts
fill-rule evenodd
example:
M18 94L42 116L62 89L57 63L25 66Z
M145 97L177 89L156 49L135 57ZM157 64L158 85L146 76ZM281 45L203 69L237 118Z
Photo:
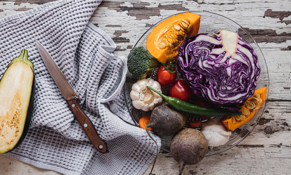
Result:
M192 29L189 30L189 33L187 33L187 29L184 29L182 27L182 22L186 24L186 22L183 21L182 19L188 22L187 26L191 25L191 27L189 28ZM180 47L181 43L185 40L185 37L198 34L199 26L200 26L200 15L196 15L194 13L181 13L169 17L168 19L159 23L150 32L148 39L146 41L147 49L149 53L157 60L159 60L159 62L161 63L164 63L165 60L169 58L177 58L178 48ZM176 27L176 29L174 27ZM163 42L162 39L164 38L166 39L165 43L169 43L169 46L166 46L166 44L163 43L161 44L161 42ZM161 45L164 45L164 47L166 48L161 48L160 47Z

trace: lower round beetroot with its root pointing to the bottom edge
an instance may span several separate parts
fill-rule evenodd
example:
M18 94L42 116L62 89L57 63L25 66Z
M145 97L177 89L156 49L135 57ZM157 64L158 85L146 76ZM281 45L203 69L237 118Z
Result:
M179 175L185 165L200 162L207 154L208 143L197 129L185 128L173 136L171 141L172 157L180 164Z

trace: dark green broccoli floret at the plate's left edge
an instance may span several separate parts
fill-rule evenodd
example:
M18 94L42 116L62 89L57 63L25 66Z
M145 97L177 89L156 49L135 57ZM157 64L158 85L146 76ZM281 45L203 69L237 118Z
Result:
M142 46L133 48L127 56L127 68L134 78L145 78L146 72L161 65Z

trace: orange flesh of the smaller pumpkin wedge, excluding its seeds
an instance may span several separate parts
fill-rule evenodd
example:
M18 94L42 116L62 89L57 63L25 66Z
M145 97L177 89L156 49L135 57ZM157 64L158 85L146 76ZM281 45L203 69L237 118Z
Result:
M267 87L264 88L260 88L258 90L255 90L254 94L259 94L260 98L262 99L262 103L261 106L264 104L264 102L266 101L266 96L267 96ZM254 96L254 95L253 95ZM252 97L253 97L252 96ZM248 98L247 100L249 101L252 97ZM260 106L260 107L261 107ZM240 127L241 125L245 124L246 122L248 122L249 120L251 120L255 114L258 112L259 109L256 109L253 113L251 113L250 115L245 115L246 119L245 120L237 120L235 123L232 122L232 117L231 116L223 116L221 118L221 121L223 122L223 124L231 131L234 131L235 129L237 129L238 127Z

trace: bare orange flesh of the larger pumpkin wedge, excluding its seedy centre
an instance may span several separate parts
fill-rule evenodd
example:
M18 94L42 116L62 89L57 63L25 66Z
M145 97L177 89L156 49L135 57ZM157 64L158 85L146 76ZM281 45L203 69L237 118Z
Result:
M175 48L169 50L168 47L161 49L159 47L159 43L163 39L163 36L167 31L171 30L171 28L176 24L179 24L181 20L187 20L192 30L187 33L187 36L192 36L198 34L199 26L200 26L200 15L196 15L194 13L181 13L159 23L149 34L148 39L146 41L146 46L149 53L155 57L159 62L164 63L165 60L169 58L177 58L178 56L178 48L180 47L182 41Z

